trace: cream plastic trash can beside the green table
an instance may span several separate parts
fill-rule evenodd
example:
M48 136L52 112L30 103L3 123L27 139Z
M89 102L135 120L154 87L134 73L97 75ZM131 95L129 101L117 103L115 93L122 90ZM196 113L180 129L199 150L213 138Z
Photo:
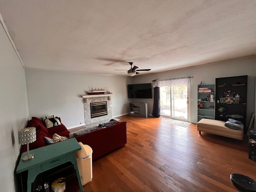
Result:
M82 144L82 142L78 143L82 149L76 152L76 161L82 185L85 185L92 181L92 148Z

